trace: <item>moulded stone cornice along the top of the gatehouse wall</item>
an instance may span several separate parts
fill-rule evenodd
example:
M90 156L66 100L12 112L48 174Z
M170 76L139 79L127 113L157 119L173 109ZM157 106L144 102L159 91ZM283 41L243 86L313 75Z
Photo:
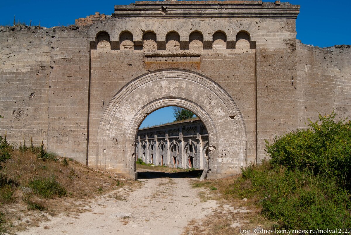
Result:
M136 1L115 5L114 18L293 18L300 5L262 1Z

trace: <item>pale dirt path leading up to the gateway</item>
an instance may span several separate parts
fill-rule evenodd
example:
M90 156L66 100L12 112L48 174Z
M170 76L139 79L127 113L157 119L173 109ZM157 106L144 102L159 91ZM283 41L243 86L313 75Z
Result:
M77 217L53 217L18 234L181 234L193 219L211 214L217 202L201 202L189 178L139 173L140 189L121 188L95 198L91 211ZM116 199L117 198L117 199Z

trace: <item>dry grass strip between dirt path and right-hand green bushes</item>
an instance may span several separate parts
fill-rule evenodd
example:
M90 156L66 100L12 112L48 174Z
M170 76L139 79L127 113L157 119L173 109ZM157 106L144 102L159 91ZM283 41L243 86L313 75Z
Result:
M211 216L188 223L183 235L240 234L239 229L272 227L272 222L260 214L261 207L257 204L257 198L243 201L243 198L238 197L237 194L226 193L234 184L237 184L236 181L237 177L230 177L215 181L193 182L193 187L202 188L198 195L201 201L216 200L219 207ZM250 187L250 185L241 185L241 187Z

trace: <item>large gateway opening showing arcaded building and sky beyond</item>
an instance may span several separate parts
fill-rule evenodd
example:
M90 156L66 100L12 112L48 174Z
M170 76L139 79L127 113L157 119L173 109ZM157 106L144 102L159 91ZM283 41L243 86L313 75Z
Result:
M174 120L167 122L172 115L171 120ZM159 124L159 120L166 123ZM143 169L144 164L151 164L168 168L203 170L206 161L205 143L208 143L208 132L200 118L187 109L176 106L163 107L150 113L138 129L135 152L142 152L145 157L144 159L136 157L136 162L139 163L137 168ZM143 148L145 144L151 148ZM155 169L162 170L162 168Z

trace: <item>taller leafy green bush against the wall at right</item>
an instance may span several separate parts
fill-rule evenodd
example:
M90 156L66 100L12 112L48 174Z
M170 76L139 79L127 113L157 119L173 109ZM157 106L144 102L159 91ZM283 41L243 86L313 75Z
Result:
M266 142L266 152L273 165L289 170L308 169L316 176L337 177L342 186L351 188L351 122L335 122L335 113L319 115L308 129L297 130Z

